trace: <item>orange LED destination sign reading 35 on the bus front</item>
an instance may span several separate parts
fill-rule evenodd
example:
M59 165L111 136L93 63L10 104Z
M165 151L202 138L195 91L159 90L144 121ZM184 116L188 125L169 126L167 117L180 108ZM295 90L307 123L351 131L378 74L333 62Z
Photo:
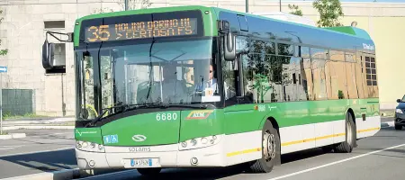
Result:
M85 28L85 41L136 40L197 34L197 18L173 18L159 21L113 23Z

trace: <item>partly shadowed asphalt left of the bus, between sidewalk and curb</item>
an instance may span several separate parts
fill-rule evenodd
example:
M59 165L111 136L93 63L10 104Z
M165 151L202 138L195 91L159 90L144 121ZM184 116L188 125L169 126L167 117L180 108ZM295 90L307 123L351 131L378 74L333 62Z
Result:
M76 167L73 130L10 130L24 139L0 140L0 179Z

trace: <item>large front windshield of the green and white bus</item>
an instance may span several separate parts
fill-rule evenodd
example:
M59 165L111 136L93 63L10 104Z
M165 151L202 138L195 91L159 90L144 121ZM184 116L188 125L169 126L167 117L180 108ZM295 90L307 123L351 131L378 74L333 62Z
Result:
M116 105L220 102L212 44L212 39L154 41L77 49L79 105L88 112L81 118Z

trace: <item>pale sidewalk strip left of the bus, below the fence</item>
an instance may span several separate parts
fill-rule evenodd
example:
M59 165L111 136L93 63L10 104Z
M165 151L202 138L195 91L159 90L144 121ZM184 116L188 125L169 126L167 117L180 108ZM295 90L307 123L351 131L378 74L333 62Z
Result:
M32 118L21 120L4 120L3 130L18 129L64 129L71 130L75 128L74 117L62 118Z

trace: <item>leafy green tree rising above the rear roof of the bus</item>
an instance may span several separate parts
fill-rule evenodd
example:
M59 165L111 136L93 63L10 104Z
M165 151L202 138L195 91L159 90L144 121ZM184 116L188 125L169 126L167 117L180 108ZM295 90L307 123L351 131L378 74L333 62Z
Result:
M344 15L339 0L315 0L312 5L320 12L318 27L342 26L338 21Z

